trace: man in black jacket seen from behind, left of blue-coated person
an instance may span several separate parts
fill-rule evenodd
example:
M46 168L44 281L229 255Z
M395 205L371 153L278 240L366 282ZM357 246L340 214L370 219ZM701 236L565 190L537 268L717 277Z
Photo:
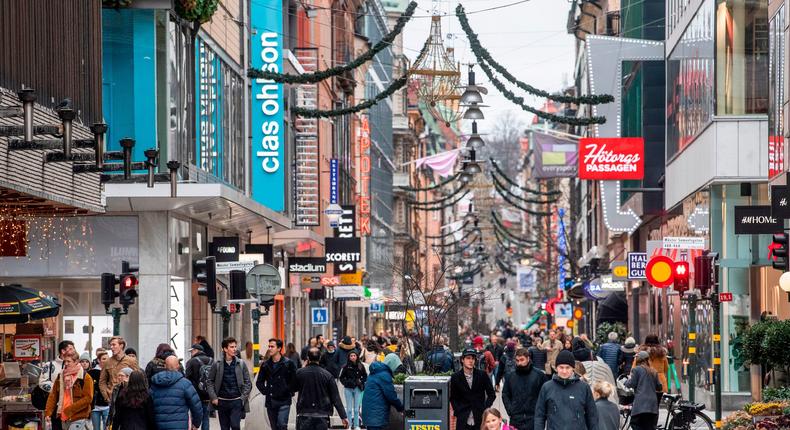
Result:
M335 379L318 364L321 350L311 347L306 357L307 365L296 371L292 387L292 391L299 393L296 400L296 430L327 430L333 406L343 420L343 427L348 428L348 416Z

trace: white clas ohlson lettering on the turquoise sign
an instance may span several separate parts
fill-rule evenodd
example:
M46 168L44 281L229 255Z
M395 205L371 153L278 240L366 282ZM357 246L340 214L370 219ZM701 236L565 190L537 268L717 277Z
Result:
M280 68L277 61L280 58L280 51L277 47L277 33L264 32L261 34L261 69L269 72L279 73ZM255 82L261 84L261 90L255 94L255 99L260 101L261 112L264 115L272 116L280 112L280 99L278 97L279 84L270 79L256 79ZM263 139L260 142L260 149L255 155L262 157L261 168L266 173L274 173L280 169L280 124L276 121L264 121L261 124Z

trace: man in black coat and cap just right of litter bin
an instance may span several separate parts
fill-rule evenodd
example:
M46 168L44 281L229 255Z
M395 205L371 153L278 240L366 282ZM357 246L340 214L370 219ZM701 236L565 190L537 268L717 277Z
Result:
M461 370L450 377L450 404L457 418L457 430L479 430L483 411L494 404L496 392L486 372L475 368L477 351L468 348L461 355Z

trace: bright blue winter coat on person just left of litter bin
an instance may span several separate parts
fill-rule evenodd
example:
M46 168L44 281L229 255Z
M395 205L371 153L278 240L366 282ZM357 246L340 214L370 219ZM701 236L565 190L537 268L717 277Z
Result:
M384 363L370 365L370 377L362 395L362 421L367 427L387 427L390 422L390 406L403 411L392 384L392 370Z

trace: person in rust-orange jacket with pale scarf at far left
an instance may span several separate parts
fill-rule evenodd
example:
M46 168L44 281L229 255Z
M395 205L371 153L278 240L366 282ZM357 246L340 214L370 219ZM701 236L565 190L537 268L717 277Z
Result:
M63 369L49 392L44 416L51 421L53 414L57 414L66 430L72 426L86 429L93 402L93 379L80 365L76 351L66 351L62 358Z

